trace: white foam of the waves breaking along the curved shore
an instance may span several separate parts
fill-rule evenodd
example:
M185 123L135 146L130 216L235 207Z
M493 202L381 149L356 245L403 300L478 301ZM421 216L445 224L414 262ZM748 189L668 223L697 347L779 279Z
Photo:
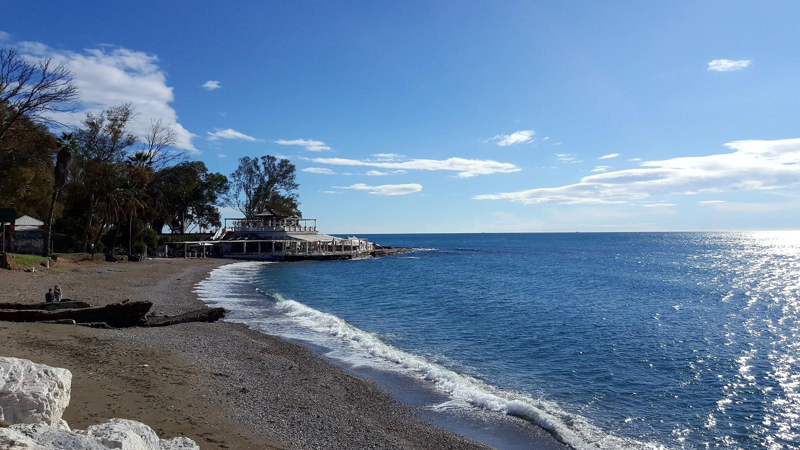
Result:
M198 283L196 292L202 299L223 303L235 308L233 289L226 283L242 283L249 279L247 271L257 269L254 263L230 264L214 270L209 279ZM258 264L258 263L256 263ZM242 270L244 273L242 273ZM250 287L252 289L252 287ZM260 291L260 290L258 290ZM565 411L550 400L534 399L516 392L503 391L477 380L454 372L383 342L377 335L354 327L335 315L327 314L303 303L271 294L274 307L291 322L306 330L334 337L355 352L366 354L393 364L405 372L410 372L434 384L454 401L437 405L438 408L457 408L471 405L494 412L505 412L528 420L545 428L558 440L576 450L663 450L661 444L641 442L626 437L614 436L610 432L591 424L586 418ZM232 302L226 300L234 300Z

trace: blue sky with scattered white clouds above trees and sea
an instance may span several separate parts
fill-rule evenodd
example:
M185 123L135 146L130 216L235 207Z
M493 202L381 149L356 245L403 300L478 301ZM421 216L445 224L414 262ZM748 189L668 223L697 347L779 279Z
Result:
M10 2L0 45L330 233L786 230L798 2ZM238 217L222 209L223 217Z

